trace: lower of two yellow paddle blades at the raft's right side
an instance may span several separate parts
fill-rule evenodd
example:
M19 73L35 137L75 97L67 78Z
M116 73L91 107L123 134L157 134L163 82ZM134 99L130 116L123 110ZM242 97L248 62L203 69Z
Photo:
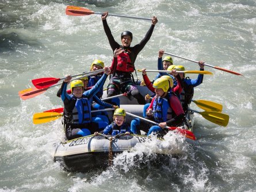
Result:
M206 120L213 122L214 124L227 126L230 117L227 114L219 112L197 112L196 110L190 109L194 113L201 114Z

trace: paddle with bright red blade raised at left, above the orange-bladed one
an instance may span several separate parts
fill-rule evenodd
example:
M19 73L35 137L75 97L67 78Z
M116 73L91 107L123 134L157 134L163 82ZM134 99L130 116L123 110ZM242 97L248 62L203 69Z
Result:
M102 72L104 69L101 70L96 70L97 72ZM77 75L72 75L72 78L75 76L80 76L80 75L94 75L96 71L90 71L90 72L83 72L82 74L77 74ZM32 79L33 85L37 89L44 89L49 86L55 85L56 83L59 82L59 80L63 80L64 78L39 78L39 79Z

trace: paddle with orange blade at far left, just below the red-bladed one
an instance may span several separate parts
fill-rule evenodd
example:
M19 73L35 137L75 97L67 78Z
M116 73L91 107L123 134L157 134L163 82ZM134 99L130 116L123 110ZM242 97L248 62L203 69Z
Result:
M96 72L97 74L98 72ZM83 75L83 76L90 76L91 74L86 74L86 75ZM75 79L80 79L81 77L78 77L78 78L74 78L72 80L75 80ZM29 89L25 89L25 90L21 90L18 92L18 95L20 96L21 99L25 100L25 99L30 99L30 98L33 98L33 97L36 97L37 95L40 95L42 93L44 93L46 90L48 90L49 88L51 87L55 87L55 86L59 86L59 85L62 85L62 83L58 83L58 84L55 84L55 85L51 85L49 87L45 87L43 89L37 89L36 87L33 87L33 88L29 88Z

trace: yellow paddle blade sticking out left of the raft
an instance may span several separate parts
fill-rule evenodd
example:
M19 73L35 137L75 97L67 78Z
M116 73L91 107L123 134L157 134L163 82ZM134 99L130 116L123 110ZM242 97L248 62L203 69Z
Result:
M45 122L54 121L60 117L62 117L62 114L55 112L36 113L33 116L33 123L44 124Z

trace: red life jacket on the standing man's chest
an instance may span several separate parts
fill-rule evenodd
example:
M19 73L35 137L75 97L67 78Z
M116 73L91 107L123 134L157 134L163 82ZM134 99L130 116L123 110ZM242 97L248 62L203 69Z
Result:
M134 66L131 62L129 53L123 52L117 56L116 70L123 71L123 72L133 72L134 71Z

